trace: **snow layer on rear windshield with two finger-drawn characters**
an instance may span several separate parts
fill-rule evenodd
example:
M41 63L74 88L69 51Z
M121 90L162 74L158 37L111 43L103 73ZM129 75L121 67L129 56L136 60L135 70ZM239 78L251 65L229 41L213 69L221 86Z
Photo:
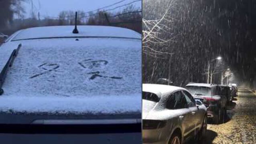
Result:
M141 111L141 40L22 40L0 96L0 111L116 113ZM10 50L11 49L11 50ZM1 61L2 56L2 61Z

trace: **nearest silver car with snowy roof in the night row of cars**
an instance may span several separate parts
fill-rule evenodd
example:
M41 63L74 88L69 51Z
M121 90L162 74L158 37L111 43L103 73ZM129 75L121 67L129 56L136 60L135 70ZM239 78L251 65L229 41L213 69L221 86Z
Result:
M206 107L185 88L142 84L143 143L181 144L200 140L207 129Z

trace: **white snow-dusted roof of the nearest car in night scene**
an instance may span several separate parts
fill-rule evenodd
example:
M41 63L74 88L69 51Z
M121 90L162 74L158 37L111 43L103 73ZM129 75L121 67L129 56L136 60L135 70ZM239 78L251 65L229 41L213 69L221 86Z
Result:
M186 90L186 89L178 86L170 86L165 84L142 84L143 92L151 92L158 96L170 94L177 90Z

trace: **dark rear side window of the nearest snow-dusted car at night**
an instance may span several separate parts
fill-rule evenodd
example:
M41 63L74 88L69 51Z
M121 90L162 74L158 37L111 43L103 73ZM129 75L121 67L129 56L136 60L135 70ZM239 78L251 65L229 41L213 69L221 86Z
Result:
M168 109L180 109L187 108L187 101L181 91L173 93L167 100L166 108Z

